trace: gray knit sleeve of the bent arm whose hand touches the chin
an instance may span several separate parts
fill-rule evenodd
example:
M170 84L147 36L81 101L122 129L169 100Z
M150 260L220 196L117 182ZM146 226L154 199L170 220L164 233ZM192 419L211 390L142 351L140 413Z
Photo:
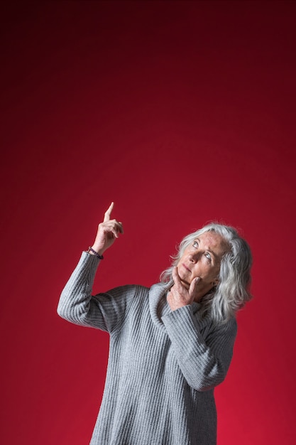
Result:
M236 338L236 320L212 327L204 338L192 306L183 306L162 317L188 385L197 391L219 385L229 369Z

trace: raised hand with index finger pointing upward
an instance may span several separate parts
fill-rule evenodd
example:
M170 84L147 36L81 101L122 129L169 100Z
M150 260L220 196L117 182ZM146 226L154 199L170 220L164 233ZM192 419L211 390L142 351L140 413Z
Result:
M110 219L113 208L114 203L111 203L109 209L106 210L103 223L98 226L97 236L92 245L92 249L100 255L114 243L116 238L119 237L119 233L124 233L122 223Z

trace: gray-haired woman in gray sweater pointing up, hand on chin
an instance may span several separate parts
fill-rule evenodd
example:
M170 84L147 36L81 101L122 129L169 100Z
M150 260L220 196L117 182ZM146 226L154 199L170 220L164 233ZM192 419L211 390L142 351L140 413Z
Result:
M113 206L57 309L72 323L110 334L90 444L214 445L214 387L231 362L236 310L250 299L250 249L234 228L212 223L182 240L161 283L92 296L99 262L124 232L111 219Z

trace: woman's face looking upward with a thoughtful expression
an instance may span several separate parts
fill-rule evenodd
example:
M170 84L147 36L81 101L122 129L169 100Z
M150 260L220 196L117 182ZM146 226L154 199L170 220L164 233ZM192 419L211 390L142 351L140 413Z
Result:
M194 301L202 299L219 283L221 258L226 250L224 238L215 232L204 232L185 249L177 264L177 272L187 289L194 278L200 278Z

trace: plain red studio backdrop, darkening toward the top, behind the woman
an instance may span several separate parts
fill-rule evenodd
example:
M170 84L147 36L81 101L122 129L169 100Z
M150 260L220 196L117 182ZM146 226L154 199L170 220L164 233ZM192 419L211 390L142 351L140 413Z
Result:
M95 291L157 282L209 220L241 228L255 299L216 389L218 444L295 444L295 13L1 3L2 444L89 442L108 336L56 306L111 200L125 234Z

